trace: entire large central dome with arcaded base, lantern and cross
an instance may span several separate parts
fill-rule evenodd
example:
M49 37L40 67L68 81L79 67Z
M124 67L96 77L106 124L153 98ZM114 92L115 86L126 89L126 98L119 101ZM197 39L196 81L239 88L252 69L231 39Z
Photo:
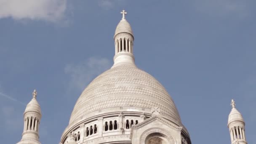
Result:
M136 67L133 32L127 13L121 13L114 35L114 64L77 99L61 144L73 144L74 139L77 144L149 144L155 138L163 144L191 144L171 96Z

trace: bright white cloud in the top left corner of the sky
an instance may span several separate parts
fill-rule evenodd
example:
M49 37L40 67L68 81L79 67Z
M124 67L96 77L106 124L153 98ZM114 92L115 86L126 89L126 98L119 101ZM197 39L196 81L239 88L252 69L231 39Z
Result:
M64 18L67 0L0 0L0 19L45 20Z

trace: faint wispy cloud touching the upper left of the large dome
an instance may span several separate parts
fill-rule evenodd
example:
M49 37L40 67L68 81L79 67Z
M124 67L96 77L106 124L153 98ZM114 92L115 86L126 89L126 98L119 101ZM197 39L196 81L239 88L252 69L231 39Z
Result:
M83 90L93 78L109 67L108 59L91 57L80 64L67 64L64 70L71 77L70 87Z

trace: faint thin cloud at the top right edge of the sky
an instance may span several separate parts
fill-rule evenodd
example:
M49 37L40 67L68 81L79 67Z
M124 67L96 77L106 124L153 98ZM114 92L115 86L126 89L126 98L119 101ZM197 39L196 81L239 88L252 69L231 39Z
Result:
M248 14L248 8L244 0L196 0L198 11L210 15L226 16L235 14L243 17Z

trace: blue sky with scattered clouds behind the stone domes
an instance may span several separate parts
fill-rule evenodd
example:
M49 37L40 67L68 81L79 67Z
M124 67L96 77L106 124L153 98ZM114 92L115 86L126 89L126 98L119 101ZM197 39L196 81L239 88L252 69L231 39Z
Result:
M231 99L256 144L255 0L0 0L0 139L21 139L37 89L40 141L58 144L77 98L113 64L123 8L136 65L175 101L193 144L229 144ZM254 140L253 140L254 139Z

